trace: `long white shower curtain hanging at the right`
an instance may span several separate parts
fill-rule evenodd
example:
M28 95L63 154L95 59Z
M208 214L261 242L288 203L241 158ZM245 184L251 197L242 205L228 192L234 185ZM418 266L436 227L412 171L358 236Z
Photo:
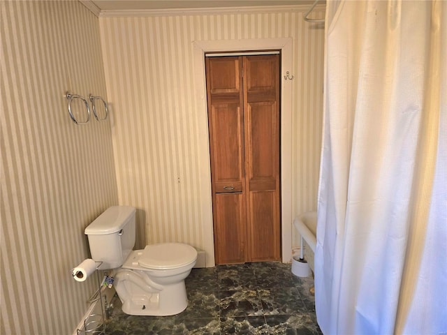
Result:
M447 334L447 1L327 1L324 334Z

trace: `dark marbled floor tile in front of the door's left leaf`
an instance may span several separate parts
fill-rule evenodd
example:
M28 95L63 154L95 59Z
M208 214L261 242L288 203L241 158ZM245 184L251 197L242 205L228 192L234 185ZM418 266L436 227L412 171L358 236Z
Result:
M256 290L256 276L254 270L245 267L242 269L219 269L217 273L219 290Z

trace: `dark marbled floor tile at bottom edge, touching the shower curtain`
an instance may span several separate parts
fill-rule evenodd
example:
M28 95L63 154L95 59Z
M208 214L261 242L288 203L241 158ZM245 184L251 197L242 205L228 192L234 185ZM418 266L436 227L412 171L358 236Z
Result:
M295 315L267 315L265 322L269 334L322 334L316 323L315 313L300 313Z

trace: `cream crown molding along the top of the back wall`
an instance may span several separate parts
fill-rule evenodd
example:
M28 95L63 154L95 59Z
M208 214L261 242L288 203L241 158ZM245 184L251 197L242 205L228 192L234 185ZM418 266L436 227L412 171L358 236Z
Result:
M81 2L84 3L91 1L82 0ZM156 17L156 16L181 16L181 15L224 15L224 14L244 14L244 13L263 14L263 13L305 12L308 9L309 5L247 6L247 7L217 7L217 8L172 8L172 9L145 9L145 10L133 10L133 9L100 10L98 16L99 17ZM325 5L323 4L317 5L314 8L314 10L324 10L324 9Z

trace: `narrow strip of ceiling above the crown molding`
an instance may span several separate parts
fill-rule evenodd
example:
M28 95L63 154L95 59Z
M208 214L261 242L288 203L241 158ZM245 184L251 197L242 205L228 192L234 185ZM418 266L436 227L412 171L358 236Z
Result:
M173 8L224 8L249 6L291 6L314 0L91 0L100 10L150 10ZM320 1L325 3L325 1Z

